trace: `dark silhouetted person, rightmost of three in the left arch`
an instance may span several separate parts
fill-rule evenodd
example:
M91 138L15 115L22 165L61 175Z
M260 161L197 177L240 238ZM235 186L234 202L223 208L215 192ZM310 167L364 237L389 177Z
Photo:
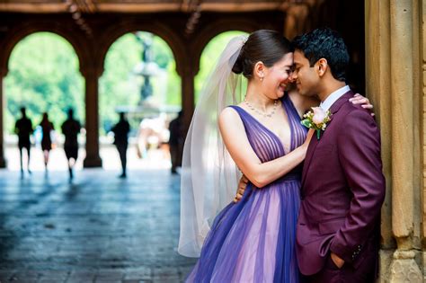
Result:
M74 111L68 110L68 119L62 124L62 133L65 136L64 151L68 160L69 179L73 179L73 167L78 158L78 133L80 133L80 122L74 119Z

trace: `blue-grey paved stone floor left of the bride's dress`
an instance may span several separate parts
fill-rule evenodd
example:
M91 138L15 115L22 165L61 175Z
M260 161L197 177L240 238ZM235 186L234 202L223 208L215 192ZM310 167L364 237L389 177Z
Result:
M0 282L182 282L179 176L0 171Z

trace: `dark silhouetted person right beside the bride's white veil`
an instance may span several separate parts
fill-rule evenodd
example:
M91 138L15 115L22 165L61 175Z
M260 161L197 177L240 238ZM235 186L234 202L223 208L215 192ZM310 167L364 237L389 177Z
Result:
M175 174L176 168L182 165L182 150L184 143L183 135L183 112L180 111L178 117L173 119L169 125L170 131L170 158L172 159L172 173Z

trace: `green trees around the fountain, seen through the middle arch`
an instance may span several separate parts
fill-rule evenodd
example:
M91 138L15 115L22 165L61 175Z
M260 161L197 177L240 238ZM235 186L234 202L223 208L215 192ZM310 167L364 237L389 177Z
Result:
M138 31L138 36L148 40L151 34ZM159 67L158 73L150 78L153 86L151 98L159 105L181 106L181 79L175 70L173 52L158 36L152 37L153 60ZM107 53L105 72L100 80L100 130L108 131L118 119L120 107L135 107L140 101L143 78L136 75L135 67L142 60L143 46L134 33L116 40ZM138 121L133 121L133 128Z

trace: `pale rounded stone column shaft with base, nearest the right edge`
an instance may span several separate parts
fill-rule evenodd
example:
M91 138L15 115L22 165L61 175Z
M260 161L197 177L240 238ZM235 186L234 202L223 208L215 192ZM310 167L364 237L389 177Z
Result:
M419 59L418 7L415 1L390 1L392 103L392 229L397 250L390 268L391 282L422 282L415 257L420 243ZM403 72L399 71L403 70ZM417 129L417 130L416 130ZM417 141L417 143L416 143Z

